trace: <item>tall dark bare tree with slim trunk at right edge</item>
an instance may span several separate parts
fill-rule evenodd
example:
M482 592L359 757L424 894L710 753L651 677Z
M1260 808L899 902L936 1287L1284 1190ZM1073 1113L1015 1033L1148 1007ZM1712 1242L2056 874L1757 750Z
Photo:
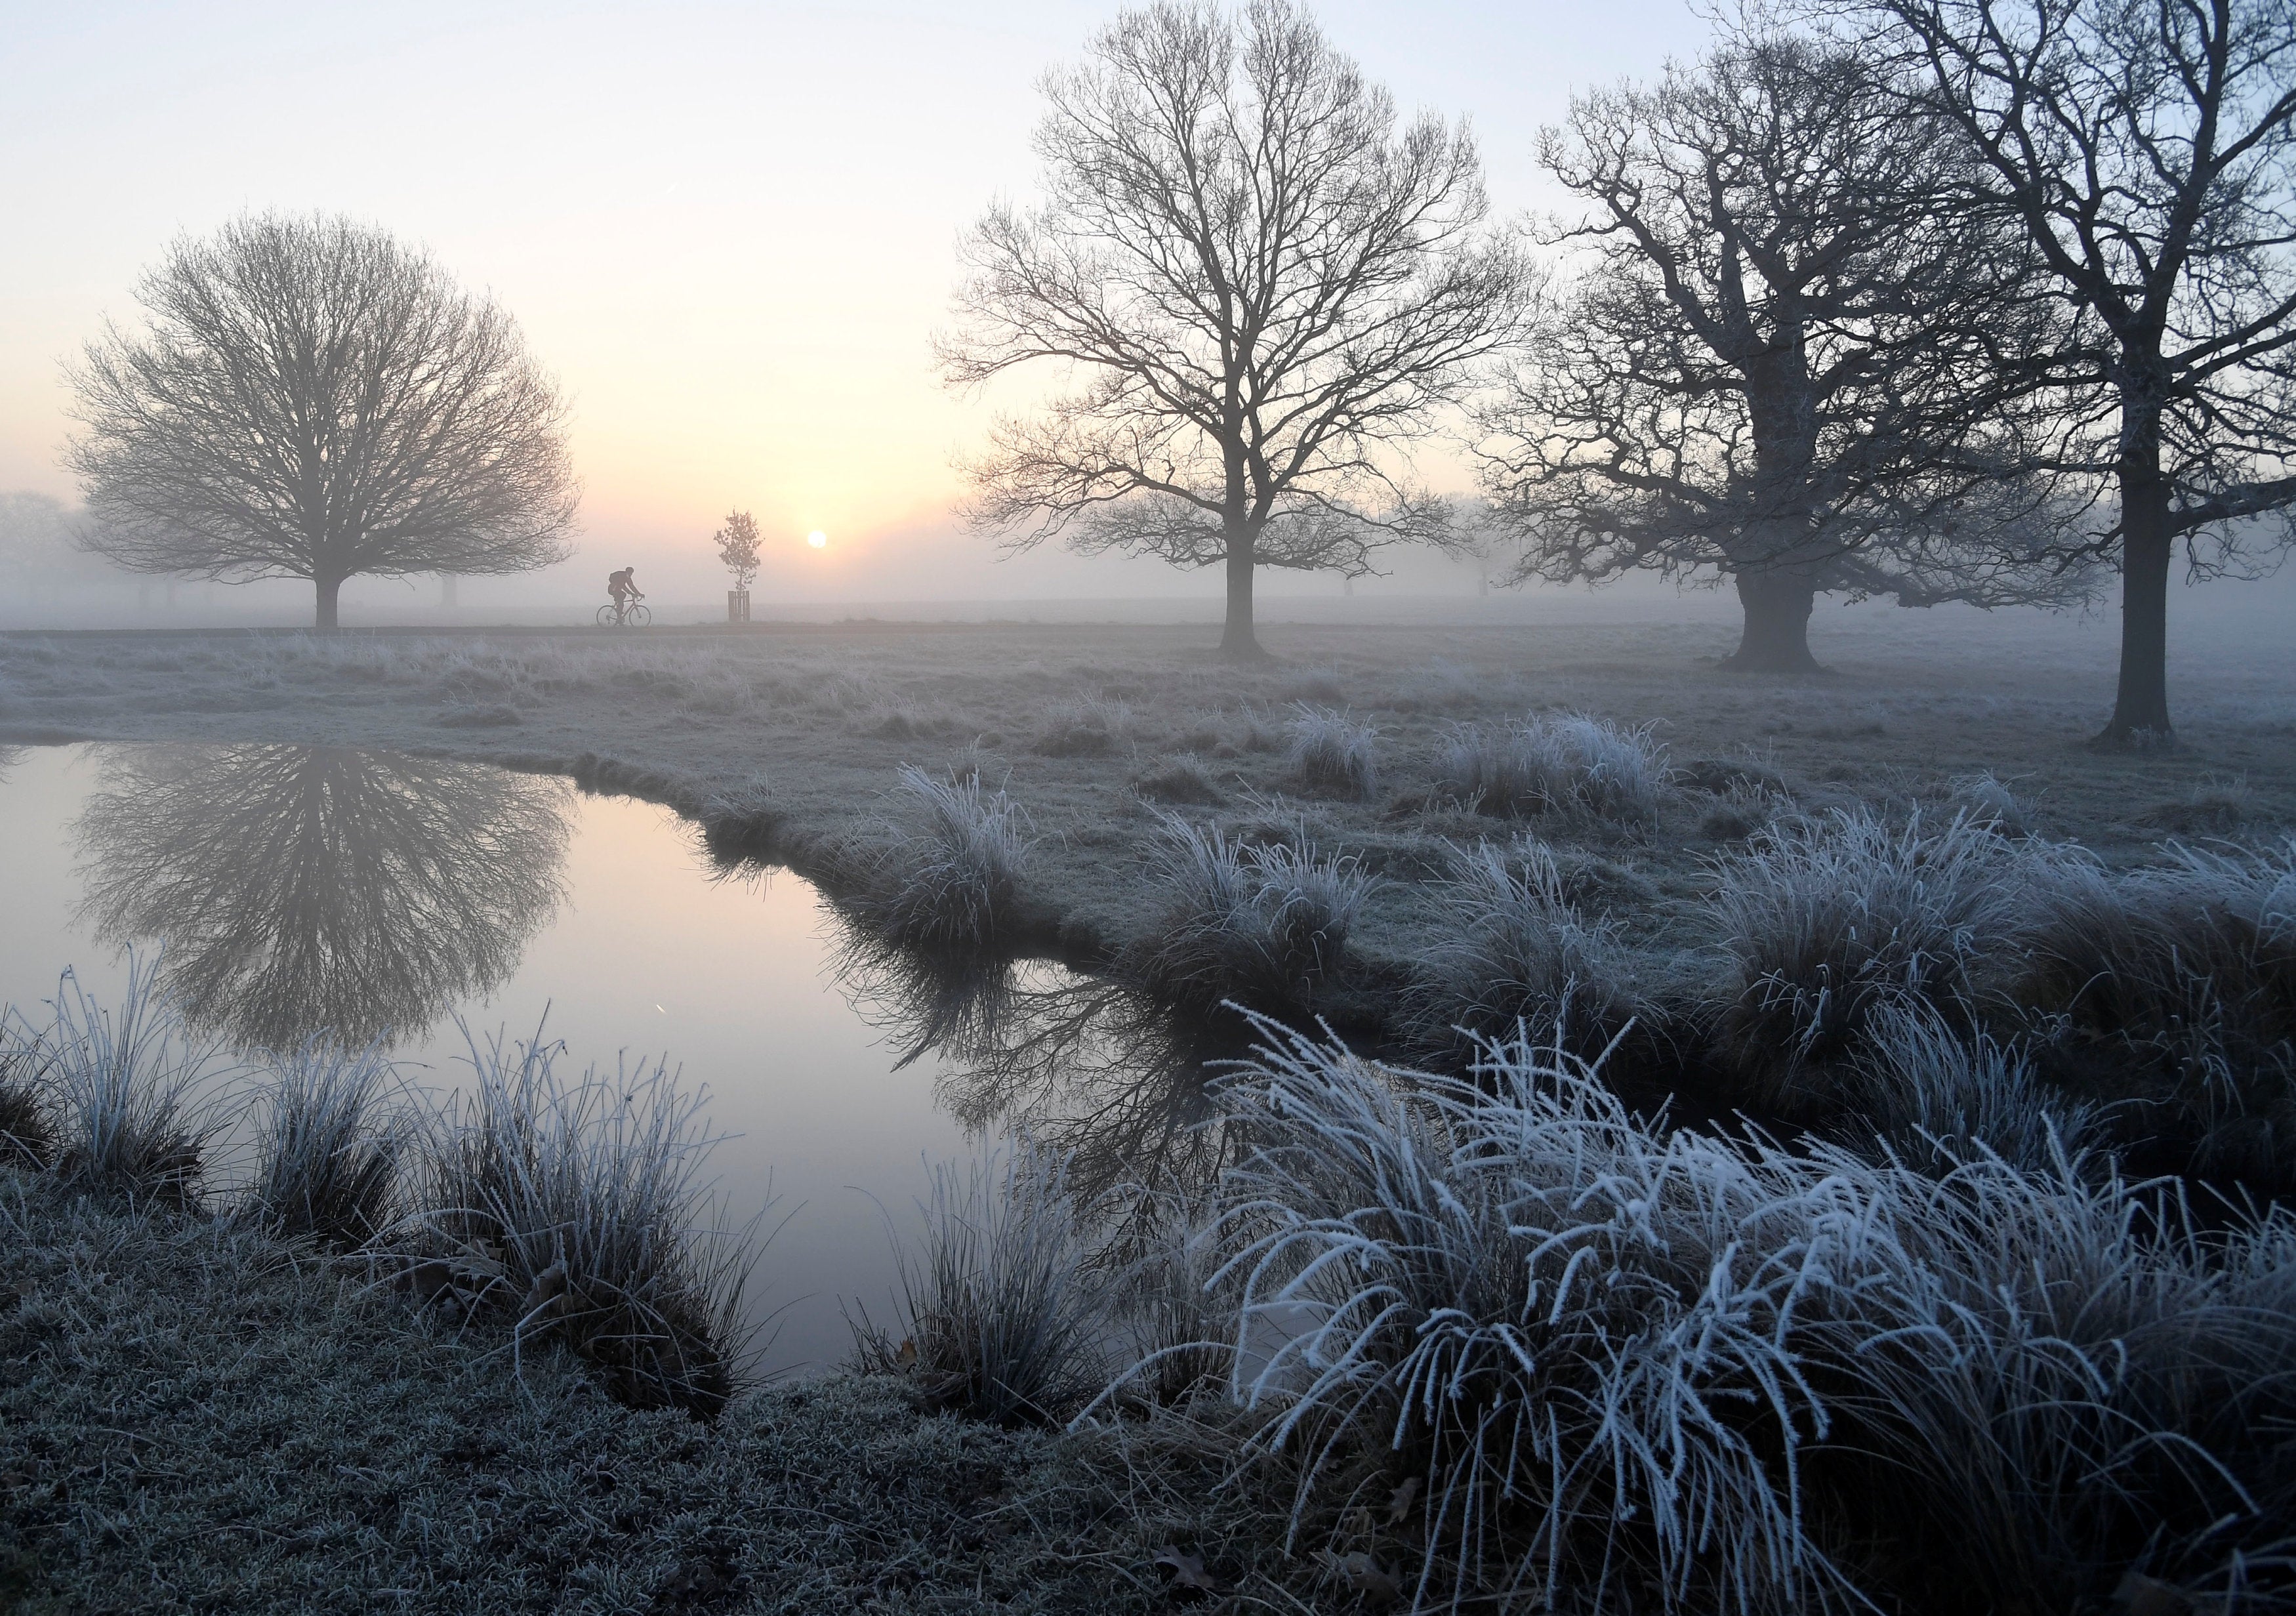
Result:
M2167 581L2287 546L2296 510L2296 2L1876 0L2082 319L2117 498L2122 673L2101 741L2170 739ZM2252 519L2278 516L2275 523Z

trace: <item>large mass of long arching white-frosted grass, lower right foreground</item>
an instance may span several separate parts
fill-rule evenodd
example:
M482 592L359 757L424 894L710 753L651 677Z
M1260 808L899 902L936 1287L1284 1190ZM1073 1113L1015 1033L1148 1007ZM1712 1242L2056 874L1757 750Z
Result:
M1662 1132L1534 1042L1442 1079L1263 1031L1224 1235L1242 1329L1286 1345L1240 1391L1302 1531L1424 1531L1421 1600L2287 1593L2296 1217L2202 1228L1975 1143Z

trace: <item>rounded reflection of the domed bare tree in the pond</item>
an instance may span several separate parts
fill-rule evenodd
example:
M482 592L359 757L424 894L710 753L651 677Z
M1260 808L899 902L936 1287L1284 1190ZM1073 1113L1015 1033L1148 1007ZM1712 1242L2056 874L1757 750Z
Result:
M246 1047L416 1038L498 987L563 898L569 792L484 764L312 746L115 755L78 822L106 941Z

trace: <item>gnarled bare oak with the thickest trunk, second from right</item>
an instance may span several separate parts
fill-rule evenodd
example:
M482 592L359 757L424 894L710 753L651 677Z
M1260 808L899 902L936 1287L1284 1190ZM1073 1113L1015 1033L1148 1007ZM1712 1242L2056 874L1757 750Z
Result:
M1577 264L1483 415L1513 581L1717 572L1729 659L1814 668L1816 595L2002 604L2050 574L2023 243L1936 207L1952 131L1851 53L1738 41L1580 96L1541 156Z

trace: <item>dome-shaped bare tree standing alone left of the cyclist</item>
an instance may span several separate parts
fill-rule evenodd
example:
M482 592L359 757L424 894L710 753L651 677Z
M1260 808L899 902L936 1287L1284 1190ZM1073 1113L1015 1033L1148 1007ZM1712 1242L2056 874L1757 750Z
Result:
M133 572L310 578L563 560L565 402L494 301L347 218L262 213L145 273L71 374L83 542Z

